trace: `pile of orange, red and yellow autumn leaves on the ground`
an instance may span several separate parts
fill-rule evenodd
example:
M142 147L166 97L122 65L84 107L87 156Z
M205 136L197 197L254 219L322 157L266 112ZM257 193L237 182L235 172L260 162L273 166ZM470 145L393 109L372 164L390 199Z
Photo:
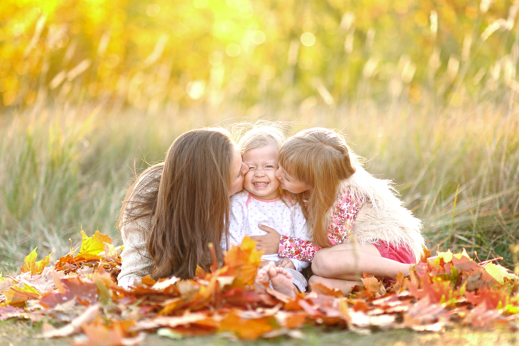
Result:
M0 276L0 321L40 323L40 337L75 336L76 344L132 345L147 333L181 338L220 333L253 340L304 337L305 324L370 333L377 328L441 331L448 325L519 328L519 278L465 251L438 253L408 278L379 281L371 275L344 296L321 285L286 297L254 278L261 253L245 238L225 255L225 266L193 280L149 276L131 289L117 286L120 251L95 232L52 267L49 256L25 257L21 274ZM78 245L79 246L79 245Z

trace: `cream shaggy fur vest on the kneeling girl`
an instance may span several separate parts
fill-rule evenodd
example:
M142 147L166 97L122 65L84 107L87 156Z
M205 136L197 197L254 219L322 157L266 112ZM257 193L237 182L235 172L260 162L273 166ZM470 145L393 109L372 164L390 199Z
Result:
M355 164L355 168L357 172L339 186L364 202L348 235L349 241L366 244L383 240L397 247L407 246L418 262L425 245L421 220L404 207L391 181L375 178L360 164Z

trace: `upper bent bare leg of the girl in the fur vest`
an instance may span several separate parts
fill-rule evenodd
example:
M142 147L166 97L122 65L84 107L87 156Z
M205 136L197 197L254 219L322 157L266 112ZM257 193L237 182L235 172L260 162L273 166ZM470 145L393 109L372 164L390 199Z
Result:
M344 243L318 251L312 272L323 278L358 281L363 272L376 278L396 278L399 272L406 276L411 266L380 256L373 244Z

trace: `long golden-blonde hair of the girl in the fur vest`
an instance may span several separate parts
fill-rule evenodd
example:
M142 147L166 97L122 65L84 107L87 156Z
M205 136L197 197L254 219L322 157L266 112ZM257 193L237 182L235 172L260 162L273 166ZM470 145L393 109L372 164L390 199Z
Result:
M281 167L292 177L312 187L311 192L289 196L307 207L303 208L313 241L328 247L329 211L335 202L339 184L355 173L350 149L344 137L332 130L313 128L290 137L279 153Z

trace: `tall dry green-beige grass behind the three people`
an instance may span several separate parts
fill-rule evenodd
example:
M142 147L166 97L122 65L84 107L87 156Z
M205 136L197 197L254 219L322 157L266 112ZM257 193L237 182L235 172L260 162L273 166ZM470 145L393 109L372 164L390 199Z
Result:
M310 126L345 132L368 171L394 179L406 206L424 220L432 250L465 247L481 260L503 256L512 266L511 246L519 243L515 109L497 99L442 108L358 99L277 112L265 104L163 109L155 116L66 104L13 112L0 125L0 266L17 270L35 246L56 259L79 241L81 227L118 239L115 220L133 167L139 172L161 160L189 129L268 116L296 122L294 132Z

